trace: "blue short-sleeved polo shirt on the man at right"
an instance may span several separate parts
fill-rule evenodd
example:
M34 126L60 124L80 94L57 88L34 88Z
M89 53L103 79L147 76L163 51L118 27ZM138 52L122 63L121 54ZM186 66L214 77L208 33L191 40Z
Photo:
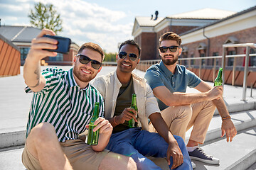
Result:
M185 66L176 64L175 72L172 74L162 61L149 67L146 70L145 78L151 89L157 86L166 86L172 93L185 93L188 86L194 88L201 83L201 79ZM159 99L157 101L161 111L168 107Z

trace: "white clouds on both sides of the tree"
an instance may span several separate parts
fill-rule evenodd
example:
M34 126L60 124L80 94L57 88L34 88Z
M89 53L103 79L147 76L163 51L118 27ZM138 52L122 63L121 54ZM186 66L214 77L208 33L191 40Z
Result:
M129 17L124 11L112 11L109 8L82 0L9 0L0 3L0 11L6 13L4 21L11 24L28 25L28 11L38 2L53 4L63 20L63 32L73 42L96 42L107 52L117 52L119 42L132 38L133 23L123 23ZM26 23L26 19L27 22ZM21 19L21 24L18 21ZM3 20L2 20L3 21ZM6 22L8 23L8 22Z

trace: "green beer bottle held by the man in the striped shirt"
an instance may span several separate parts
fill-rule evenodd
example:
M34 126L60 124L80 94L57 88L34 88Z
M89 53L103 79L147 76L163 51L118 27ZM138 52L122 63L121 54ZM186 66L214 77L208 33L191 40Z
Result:
M89 130L88 130L88 138L87 138L87 144L88 145L97 145L99 140L99 130L96 132L93 132L93 128L95 128L97 125L94 125L95 120L99 118L99 103L95 102L95 107L93 110L93 115L89 123Z

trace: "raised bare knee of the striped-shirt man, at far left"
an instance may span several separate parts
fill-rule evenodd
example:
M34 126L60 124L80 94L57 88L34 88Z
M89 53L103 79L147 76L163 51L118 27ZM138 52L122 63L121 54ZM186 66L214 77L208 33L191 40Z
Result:
M36 142L48 141L55 135L55 129L50 123L40 123L36 125L28 135Z

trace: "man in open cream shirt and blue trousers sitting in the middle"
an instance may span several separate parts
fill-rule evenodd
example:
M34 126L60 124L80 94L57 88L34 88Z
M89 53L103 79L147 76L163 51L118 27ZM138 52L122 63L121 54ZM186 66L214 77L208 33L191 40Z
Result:
M98 77L93 83L104 98L105 118L114 127L106 148L132 157L138 169L161 169L146 156L166 157L170 169L192 169L185 143L169 132L151 88L144 78L132 73L139 63L140 52L134 40L123 42L116 71ZM130 108L134 93L138 112ZM128 121L132 118L135 127L129 128ZM148 118L159 134L148 131Z

